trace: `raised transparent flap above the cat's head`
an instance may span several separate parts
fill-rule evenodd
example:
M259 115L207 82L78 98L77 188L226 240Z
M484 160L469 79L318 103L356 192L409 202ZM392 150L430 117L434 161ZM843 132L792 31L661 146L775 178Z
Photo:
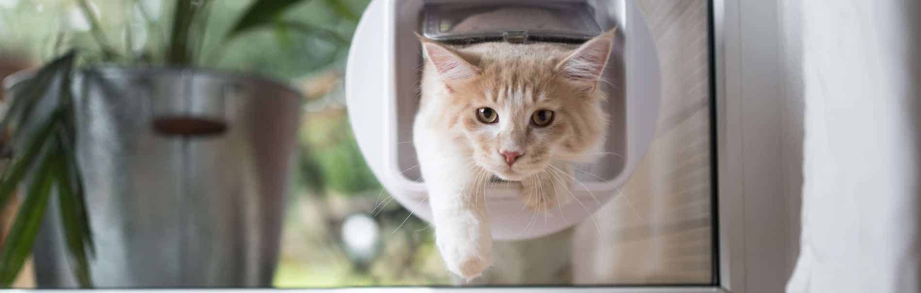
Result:
M423 8L428 39L453 43L583 42L601 34L594 9L585 3L520 5L430 4Z

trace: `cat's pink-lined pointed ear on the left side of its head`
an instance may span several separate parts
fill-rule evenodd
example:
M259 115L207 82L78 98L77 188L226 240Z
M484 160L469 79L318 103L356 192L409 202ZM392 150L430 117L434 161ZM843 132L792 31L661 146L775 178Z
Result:
M480 69L463 59L457 51L421 36L419 36L419 41L422 42L426 60L432 62L442 81L458 82L480 74Z

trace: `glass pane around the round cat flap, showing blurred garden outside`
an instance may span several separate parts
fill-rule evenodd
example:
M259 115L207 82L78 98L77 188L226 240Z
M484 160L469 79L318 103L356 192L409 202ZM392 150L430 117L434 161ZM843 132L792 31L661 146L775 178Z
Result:
M132 33L133 50L163 42L167 1L88 1L101 25ZM367 0L305 1L286 13L351 39L356 22L336 13L344 4L360 16ZM296 174L286 202L275 287L435 285L709 284L712 278L713 192L707 2L638 1L659 47L662 108L656 139L626 186L594 222L520 242L497 242L495 265L465 283L444 269L433 227L393 201L367 168L344 107L347 43L297 31L253 31L219 40L251 1L212 1L203 51L220 69L290 81L306 97L298 133ZM0 0L0 75L13 64L37 65L55 43L93 46L76 1ZM149 17L149 18L148 18ZM151 19L146 23L144 19ZM130 32L129 32L130 31ZM121 41L111 36L111 41ZM143 39L138 40L138 39ZM61 46L58 44L57 46ZM13 52L23 52L12 54ZM9 58L9 56L17 56ZM4 224L9 212L2 217ZM91 216L91 215L90 215ZM98 254L106 254L99 251ZM35 287L27 265L17 287ZM69 274L70 272L53 272ZM39 284L41 285L41 284Z

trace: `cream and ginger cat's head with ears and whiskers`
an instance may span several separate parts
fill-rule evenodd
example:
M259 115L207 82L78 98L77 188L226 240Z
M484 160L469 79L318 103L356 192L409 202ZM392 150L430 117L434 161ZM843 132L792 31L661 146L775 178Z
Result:
M423 39L423 94L447 99L439 127L466 137L473 162L518 181L600 146L607 118L598 84L613 39L612 30L575 50L503 42L456 50Z

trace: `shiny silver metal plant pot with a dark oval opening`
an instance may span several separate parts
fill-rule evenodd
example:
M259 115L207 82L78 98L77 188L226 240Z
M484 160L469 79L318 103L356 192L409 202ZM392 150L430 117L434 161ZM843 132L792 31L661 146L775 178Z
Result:
M268 287L300 96L232 73L102 68L74 83L96 287ZM52 202L39 287L76 287Z

